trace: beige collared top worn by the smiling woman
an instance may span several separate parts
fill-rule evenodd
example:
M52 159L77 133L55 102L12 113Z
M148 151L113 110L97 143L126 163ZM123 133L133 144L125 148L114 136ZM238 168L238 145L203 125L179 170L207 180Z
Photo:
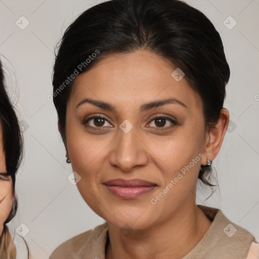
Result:
M183 259L259 258L259 244L247 230L227 219L220 209L198 206L212 223L200 242ZM108 240L108 223L105 222L58 246L50 259L105 259Z

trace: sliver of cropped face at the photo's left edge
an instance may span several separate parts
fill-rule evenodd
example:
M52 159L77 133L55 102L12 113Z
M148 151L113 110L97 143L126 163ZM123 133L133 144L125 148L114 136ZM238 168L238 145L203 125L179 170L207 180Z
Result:
M3 149L2 127L0 125L0 173L6 173L6 159ZM13 206L13 193L12 193L12 178L5 176L9 179L3 180L0 178L0 236L3 233L4 222L7 220Z

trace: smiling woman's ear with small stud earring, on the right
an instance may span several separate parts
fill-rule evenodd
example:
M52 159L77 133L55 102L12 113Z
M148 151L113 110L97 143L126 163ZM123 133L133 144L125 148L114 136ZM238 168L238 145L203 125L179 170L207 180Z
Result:
M218 123L206 133L205 146L202 152L204 155L201 160L202 165L207 165L207 158L211 161L214 160L220 152L222 142L228 129L228 124L229 112L227 109L223 108Z

